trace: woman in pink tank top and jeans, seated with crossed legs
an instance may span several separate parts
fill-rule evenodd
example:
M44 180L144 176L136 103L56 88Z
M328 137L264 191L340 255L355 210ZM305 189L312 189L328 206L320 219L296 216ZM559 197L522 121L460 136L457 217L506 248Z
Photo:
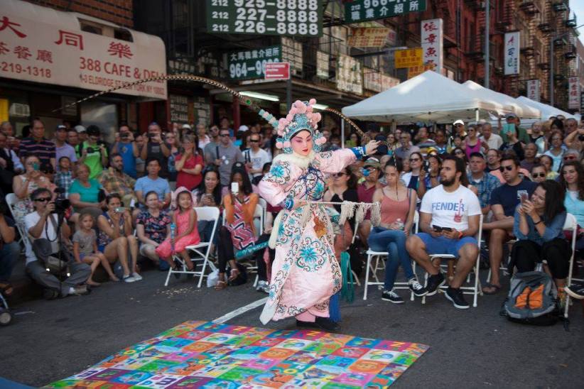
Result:
M405 187L399 180L401 163L385 165L387 186L375 191L373 202L381 203L381 223L374 226L369 234L369 248L387 252L384 291L382 300L402 304L404 300L394 292L397 268L401 264L408 279L409 287L415 295L423 295L423 286L418 282L411 268L411 258L406 251L406 238L413 224L416 212L416 191ZM373 222L373 220L372 220Z

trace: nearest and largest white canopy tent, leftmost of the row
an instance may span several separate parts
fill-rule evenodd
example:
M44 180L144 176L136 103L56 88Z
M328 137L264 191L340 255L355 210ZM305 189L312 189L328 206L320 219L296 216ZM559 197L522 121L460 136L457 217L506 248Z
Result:
M431 70L342 109L353 119L398 123L473 121L489 119L489 112L504 114L504 106Z

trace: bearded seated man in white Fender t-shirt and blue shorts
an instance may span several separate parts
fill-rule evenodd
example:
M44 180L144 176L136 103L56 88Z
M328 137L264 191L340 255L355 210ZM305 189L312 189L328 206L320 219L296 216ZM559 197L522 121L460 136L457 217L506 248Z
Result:
M445 296L458 309L470 307L460 285L477 261L478 246L475 234L479 229L480 203L477 196L460 184L465 177L465 163L453 156L445 157L440 169L438 187L426 192L420 208L419 234L410 236L406 249L411 258L430 276L426 284L428 296L435 295L445 278L440 268L432 265L428 254L450 254L457 258L454 279Z

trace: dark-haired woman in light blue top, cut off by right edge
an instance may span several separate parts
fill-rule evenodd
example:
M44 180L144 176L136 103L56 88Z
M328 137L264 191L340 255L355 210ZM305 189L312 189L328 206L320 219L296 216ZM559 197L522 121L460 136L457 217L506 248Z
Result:
M561 169L560 185L566 188L563 204L566 212L578 221L576 250L584 249L584 168L577 160L566 162Z

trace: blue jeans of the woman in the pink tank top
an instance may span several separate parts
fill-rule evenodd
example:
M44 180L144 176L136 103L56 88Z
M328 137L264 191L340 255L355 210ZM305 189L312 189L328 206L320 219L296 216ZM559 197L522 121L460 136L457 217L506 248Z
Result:
M406 250L406 234L404 234L404 231L373 227L367 243L369 243L369 248L373 251L387 251L389 253L385 265L385 290L393 289L397 268L400 263L401 268L406 273L406 278L410 280L414 277L411 268L411 258Z

